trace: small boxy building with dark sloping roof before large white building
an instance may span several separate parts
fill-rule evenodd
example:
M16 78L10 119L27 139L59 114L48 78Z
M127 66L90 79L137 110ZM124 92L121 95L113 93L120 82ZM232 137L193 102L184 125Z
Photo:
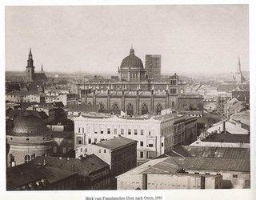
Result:
M136 147L137 141L119 136L79 146L76 149L76 158L95 154L110 166L111 174L118 175L136 166Z

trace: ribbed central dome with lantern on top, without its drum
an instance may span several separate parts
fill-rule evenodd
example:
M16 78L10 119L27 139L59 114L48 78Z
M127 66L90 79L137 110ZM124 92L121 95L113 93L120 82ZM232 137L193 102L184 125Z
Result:
M123 58L120 68L121 69L123 68L143 69L142 60L137 56L135 56L133 48L130 49L130 55L128 55L126 58Z

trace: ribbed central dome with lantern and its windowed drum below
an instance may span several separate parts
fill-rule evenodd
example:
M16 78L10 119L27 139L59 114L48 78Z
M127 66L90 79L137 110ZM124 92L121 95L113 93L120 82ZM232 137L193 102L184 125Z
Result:
M134 49L130 49L130 55L122 59L118 73L122 81L141 81L145 80L146 70L143 67L142 60L134 54Z

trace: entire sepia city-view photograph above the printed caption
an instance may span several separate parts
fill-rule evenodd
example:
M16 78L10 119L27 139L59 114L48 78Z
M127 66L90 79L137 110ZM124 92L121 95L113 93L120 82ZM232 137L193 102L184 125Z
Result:
M5 6L4 23L7 193L251 188L248 4Z

